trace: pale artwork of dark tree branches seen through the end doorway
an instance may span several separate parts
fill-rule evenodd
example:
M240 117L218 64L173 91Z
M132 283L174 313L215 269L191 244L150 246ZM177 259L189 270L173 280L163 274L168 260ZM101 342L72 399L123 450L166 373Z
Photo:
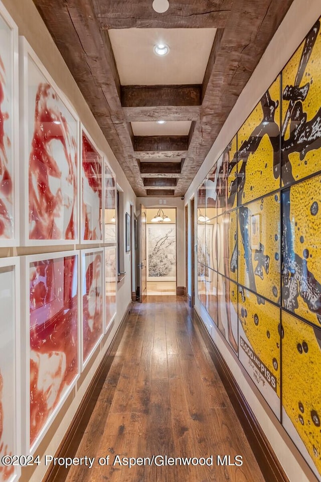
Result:
M148 224L148 277L175 281L176 229L174 224Z

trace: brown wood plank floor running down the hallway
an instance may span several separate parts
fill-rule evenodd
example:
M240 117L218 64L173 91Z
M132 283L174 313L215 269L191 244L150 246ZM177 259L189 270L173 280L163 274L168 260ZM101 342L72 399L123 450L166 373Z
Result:
M210 457L213 466L112 466L120 457ZM217 455L243 457L217 466ZM263 482L241 428L183 297L149 296L133 305L67 482ZM109 465L99 457L109 455Z

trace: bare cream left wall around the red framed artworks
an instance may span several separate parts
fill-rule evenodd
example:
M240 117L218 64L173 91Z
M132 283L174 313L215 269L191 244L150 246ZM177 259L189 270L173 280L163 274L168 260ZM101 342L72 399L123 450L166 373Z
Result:
M3 3L14 21L18 25L19 35L26 37L31 47L35 50L36 54L44 64L50 75L53 77L58 86L62 89L69 101L77 111L82 123L93 138L97 147L106 154L111 168L116 174L116 180L118 185L124 192L124 212L130 213L130 205L136 205L136 196L130 187L120 165L118 164L115 156L113 155L108 143L106 142L98 124L96 123L87 103L85 102L75 80L69 72L63 58L61 57L54 41L52 40L45 24L43 23L34 3L32 0L3 0ZM22 160L21 160L22 162ZM123 223L125 220L123 219ZM97 245L96 245L97 246ZM101 246L104 246L101 244ZM90 248L90 246L76 246L79 248ZM65 247L63 249L66 249ZM61 251L60 247L51 247L49 249L42 249L42 252ZM17 254L22 256L26 254L32 254L40 252L36 248L19 248L17 249L2 249L0 256L16 256ZM81 377L74 388L62 410L57 415L55 421L51 425L48 433L46 434L41 445L37 449L37 454L41 457L44 454L54 455L57 448L71 422L83 395L92 380L92 377L101 362L101 359L106 352L110 341L116 332L116 329L121 321L126 308L130 302L130 254L125 254L125 271L126 276L124 280L118 284L117 292L117 314L114 323L114 327L110 335L102 340L100 346L97 348L93 358L90 360L85 371L81 374ZM26 320L22 320L25 323ZM24 343L27 340L23 340ZM44 463L39 467L27 467L22 471L22 482L39 482L45 474L48 467L45 467Z

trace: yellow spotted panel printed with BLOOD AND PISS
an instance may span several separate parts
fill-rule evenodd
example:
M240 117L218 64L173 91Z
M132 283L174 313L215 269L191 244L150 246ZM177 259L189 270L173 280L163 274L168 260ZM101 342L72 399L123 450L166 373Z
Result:
M239 360L280 420L280 308L239 286Z

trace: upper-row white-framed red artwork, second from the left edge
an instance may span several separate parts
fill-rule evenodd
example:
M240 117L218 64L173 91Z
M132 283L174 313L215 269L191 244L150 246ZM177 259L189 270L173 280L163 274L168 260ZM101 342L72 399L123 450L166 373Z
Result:
M22 238L25 246L75 244L79 119L24 38L20 61Z

